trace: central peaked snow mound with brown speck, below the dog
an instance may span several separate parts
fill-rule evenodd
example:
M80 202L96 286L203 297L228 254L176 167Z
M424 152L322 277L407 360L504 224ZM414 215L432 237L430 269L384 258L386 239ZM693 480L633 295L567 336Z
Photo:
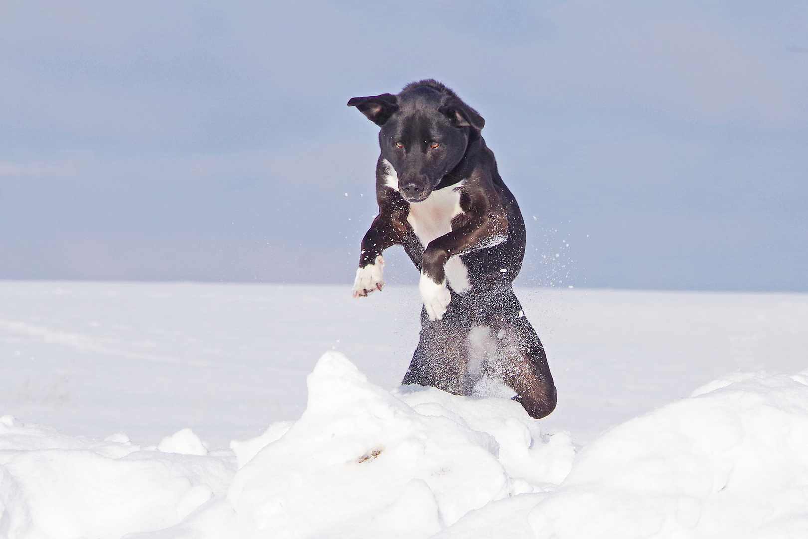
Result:
M244 537L429 537L491 500L552 488L574 456L566 433L545 442L516 402L390 394L336 352L308 385L301 419L230 487Z

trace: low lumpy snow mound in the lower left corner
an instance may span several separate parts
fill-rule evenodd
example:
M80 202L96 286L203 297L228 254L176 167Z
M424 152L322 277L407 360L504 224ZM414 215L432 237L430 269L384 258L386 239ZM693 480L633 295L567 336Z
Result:
M169 455L116 434L65 436L0 418L0 537L74 539L178 523L234 475L230 459Z

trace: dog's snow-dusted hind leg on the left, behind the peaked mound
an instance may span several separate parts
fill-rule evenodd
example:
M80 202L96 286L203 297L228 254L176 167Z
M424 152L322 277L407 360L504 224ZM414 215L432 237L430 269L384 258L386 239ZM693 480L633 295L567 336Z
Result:
M468 394L469 331L469 305L455 293L441 320L430 320L426 308L421 310L421 339L402 384L431 385L456 395Z

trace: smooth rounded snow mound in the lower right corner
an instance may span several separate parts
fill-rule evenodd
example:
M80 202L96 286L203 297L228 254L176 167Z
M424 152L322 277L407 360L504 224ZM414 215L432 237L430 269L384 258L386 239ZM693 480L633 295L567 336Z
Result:
M735 373L606 432L532 509L535 537L808 537L806 381Z

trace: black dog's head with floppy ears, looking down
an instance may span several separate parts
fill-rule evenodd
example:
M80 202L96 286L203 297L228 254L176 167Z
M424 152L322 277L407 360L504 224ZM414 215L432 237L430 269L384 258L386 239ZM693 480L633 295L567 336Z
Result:
M355 97L356 107L381 127L381 157L398 175L398 191L410 202L429 196L461 161L473 131L486 121L440 82L421 81L398 95Z

